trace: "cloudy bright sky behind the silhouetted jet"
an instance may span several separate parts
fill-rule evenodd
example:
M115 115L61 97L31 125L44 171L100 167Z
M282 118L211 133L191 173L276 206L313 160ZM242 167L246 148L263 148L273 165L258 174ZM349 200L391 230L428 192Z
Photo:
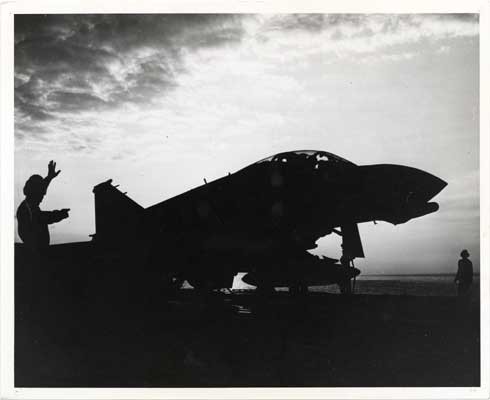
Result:
M478 268L478 31L468 14L16 15L15 204L53 159L42 207L72 211L52 243L88 240L108 178L147 207L318 149L449 183L435 214L360 226L365 272L454 272L462 248Z

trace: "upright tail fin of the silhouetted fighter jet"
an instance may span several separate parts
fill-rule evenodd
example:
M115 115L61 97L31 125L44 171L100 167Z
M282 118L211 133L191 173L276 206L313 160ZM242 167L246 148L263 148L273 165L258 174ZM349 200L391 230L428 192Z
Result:
M95 197L94 240L121 243L140 233L144 208L112 185L112 179L93 188Z

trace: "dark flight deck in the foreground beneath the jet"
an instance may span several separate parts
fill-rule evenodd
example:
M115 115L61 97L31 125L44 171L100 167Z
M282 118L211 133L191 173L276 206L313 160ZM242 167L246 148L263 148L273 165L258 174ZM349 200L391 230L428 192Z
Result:
M479 386L479 309L455 297L166 299L83 276L17 274L16 386Z

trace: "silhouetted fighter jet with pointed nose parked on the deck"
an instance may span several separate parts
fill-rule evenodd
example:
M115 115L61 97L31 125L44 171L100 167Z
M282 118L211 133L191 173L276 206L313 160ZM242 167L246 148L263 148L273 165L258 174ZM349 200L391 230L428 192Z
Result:
M437 211L443 180L401 165L357 166L325 151L280 153L143 208L108 180L94 187L94 245L151 281L230 288L341 283L359 274L307 250L328 234L364 257L357 224L401 224Z

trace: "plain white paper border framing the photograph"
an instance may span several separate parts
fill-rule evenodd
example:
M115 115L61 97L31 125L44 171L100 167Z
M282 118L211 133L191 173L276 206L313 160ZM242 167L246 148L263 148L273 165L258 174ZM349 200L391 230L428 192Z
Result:
M14 29L15 14L64 13L477 13L480 27L481 386L465 388L15 388ZM490 3L484 0L63 0L0 3L0 398L1 399L488 399L490 254Z

